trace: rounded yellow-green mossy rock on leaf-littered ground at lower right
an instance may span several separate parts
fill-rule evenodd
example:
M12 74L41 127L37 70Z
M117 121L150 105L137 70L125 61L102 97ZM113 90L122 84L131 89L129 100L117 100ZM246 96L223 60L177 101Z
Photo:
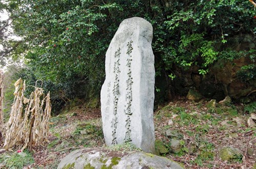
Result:
M223 161L232 161L239 160L238 158L242 159L243 155L239 149L234 148L232 146L225 146L219 150L219 157Z

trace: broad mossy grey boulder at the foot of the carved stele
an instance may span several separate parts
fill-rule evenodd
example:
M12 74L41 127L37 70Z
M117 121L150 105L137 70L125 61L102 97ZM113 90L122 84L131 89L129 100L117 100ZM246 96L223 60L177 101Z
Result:
M179 163L165 157L144 152L120 152L106 149L79 149L63 158L58 169L66 168L173 168L182 169Z

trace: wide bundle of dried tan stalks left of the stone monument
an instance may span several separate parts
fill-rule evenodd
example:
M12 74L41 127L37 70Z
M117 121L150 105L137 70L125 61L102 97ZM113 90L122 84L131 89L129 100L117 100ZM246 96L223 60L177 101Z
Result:
M6 124L4 149L29 147L48 142L48 122L51 116L50 93L45 97L42 88L35 87L30 98L24 96L25 81L15 82L14 102Z

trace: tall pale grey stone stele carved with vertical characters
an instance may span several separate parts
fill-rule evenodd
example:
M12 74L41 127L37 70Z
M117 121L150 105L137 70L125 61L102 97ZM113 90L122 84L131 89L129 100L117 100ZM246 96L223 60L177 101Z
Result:
M131 142L155 153L153 28L143 18L121 22L108 51L101 116L108 146Z

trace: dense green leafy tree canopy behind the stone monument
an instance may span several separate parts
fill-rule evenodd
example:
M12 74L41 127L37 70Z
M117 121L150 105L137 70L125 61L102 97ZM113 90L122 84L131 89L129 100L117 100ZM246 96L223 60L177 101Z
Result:
M218 60L255 51L235 52L228 43L235 35L255 35L254 6L244 0L8 0L1 1L3 9L10 17L0 23L1 57L24 57L24 76L45 80L66 98L99 95L106 49L125 18L152 23L157 75L164 71L174 78L174 66L197 66L204 75ZM8 39L8 26L22 40Z

